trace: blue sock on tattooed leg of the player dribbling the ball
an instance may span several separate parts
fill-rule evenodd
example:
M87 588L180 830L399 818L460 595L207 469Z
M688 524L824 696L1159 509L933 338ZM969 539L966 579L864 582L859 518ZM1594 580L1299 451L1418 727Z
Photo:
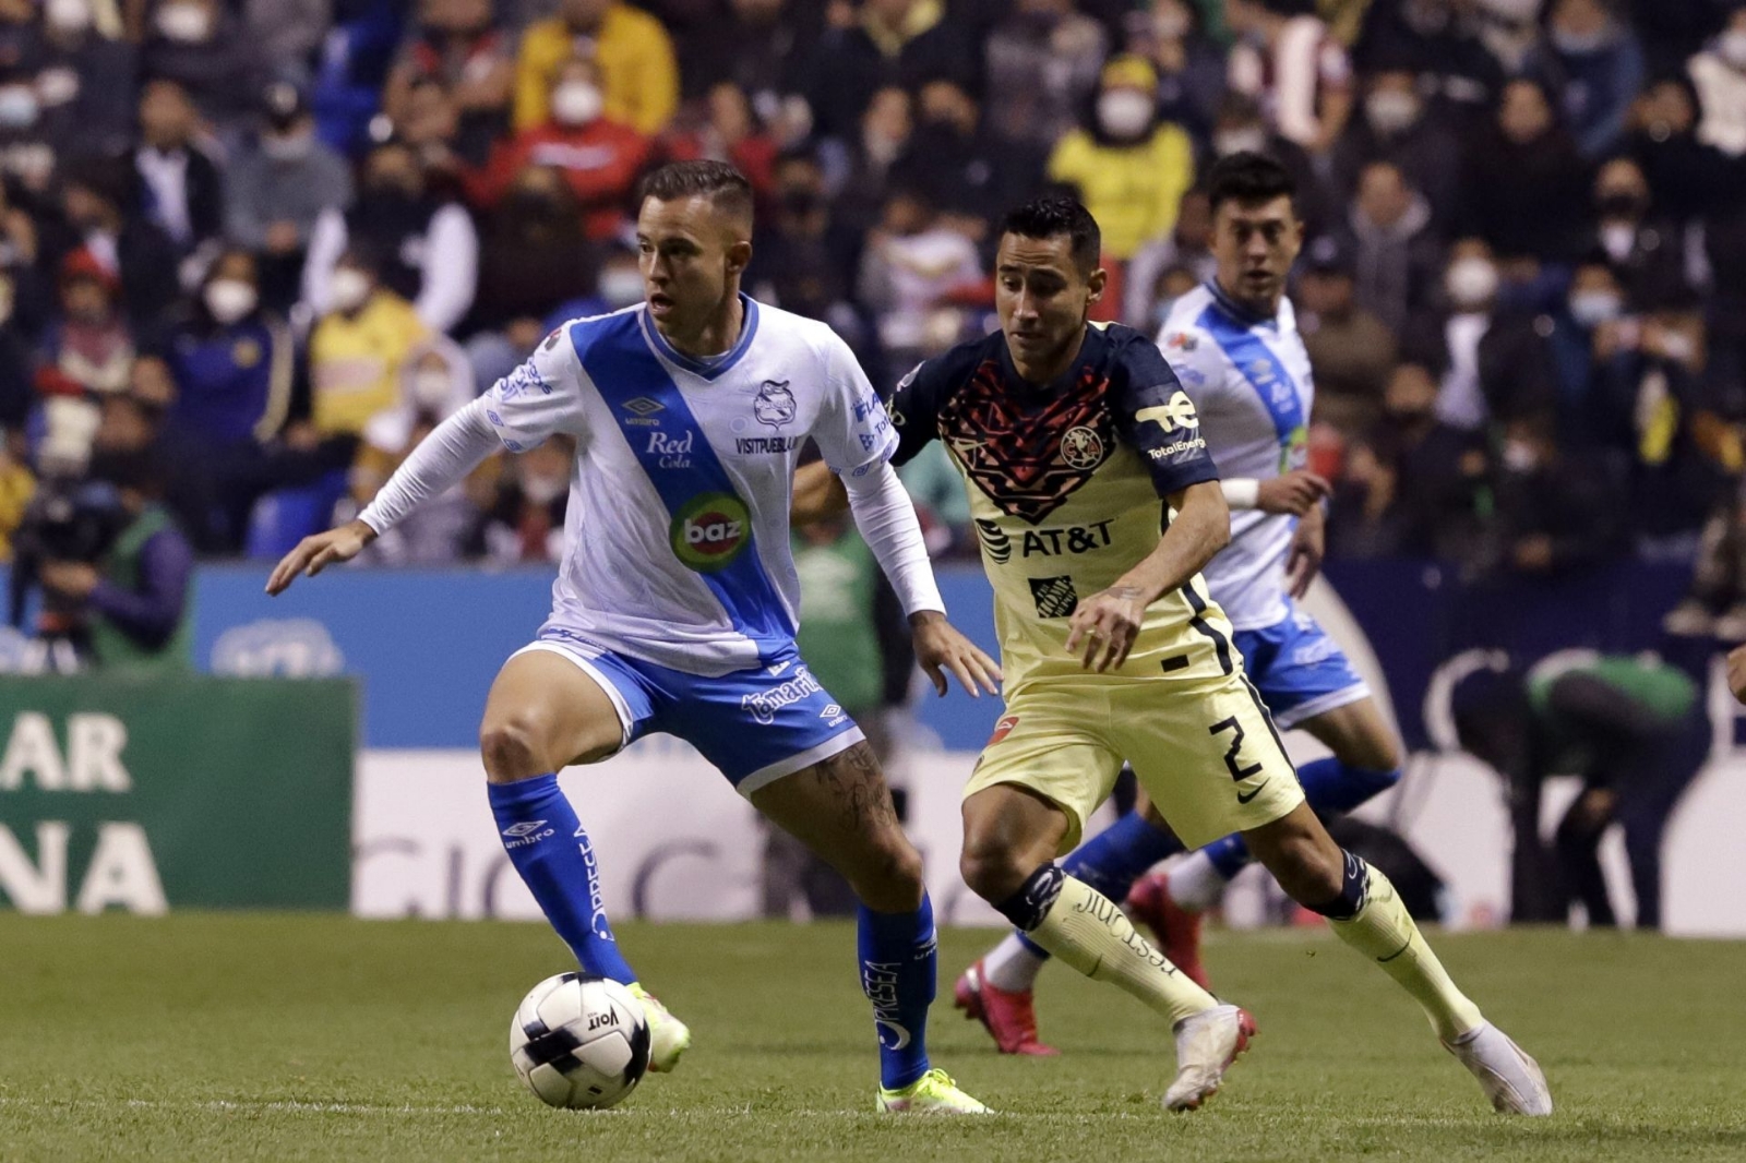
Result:
M934 905L925 894L913 913L875 913L863 905L857 938L861 992L873 1002L878 1032L880 1086L897 1090L927 1074L927 1008L939 962Z

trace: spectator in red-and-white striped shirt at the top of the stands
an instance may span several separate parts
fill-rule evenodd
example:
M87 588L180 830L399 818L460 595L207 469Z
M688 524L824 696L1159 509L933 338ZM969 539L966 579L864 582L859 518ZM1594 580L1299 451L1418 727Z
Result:
M1332 148L1351 115L1351 61L1294 0L1227 0L1224 16L1238 42L1227 80L1255 98L1268 122L1311 154Z

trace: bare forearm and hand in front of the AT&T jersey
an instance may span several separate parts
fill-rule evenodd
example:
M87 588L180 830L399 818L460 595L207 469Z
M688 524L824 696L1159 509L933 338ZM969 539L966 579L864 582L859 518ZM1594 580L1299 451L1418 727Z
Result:
M1177 517L1158 548L1116 578L1116 585L1079 602L1067 630L1067 653L1083 653L1086 669L1119 667L1133 650L1145 608L1200 573L1213 554L1231 543L1231 510L1217 480L1203 480L1173 494Z

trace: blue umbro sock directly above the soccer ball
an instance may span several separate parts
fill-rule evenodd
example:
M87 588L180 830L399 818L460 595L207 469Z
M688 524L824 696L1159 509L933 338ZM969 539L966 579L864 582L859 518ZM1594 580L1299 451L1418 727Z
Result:
M513 784L487 782L485 795L510 863L576 955L581 971L623 985L636 981L637 974L625 964L618 938L606 922L594 845L559 789L557 775Z

